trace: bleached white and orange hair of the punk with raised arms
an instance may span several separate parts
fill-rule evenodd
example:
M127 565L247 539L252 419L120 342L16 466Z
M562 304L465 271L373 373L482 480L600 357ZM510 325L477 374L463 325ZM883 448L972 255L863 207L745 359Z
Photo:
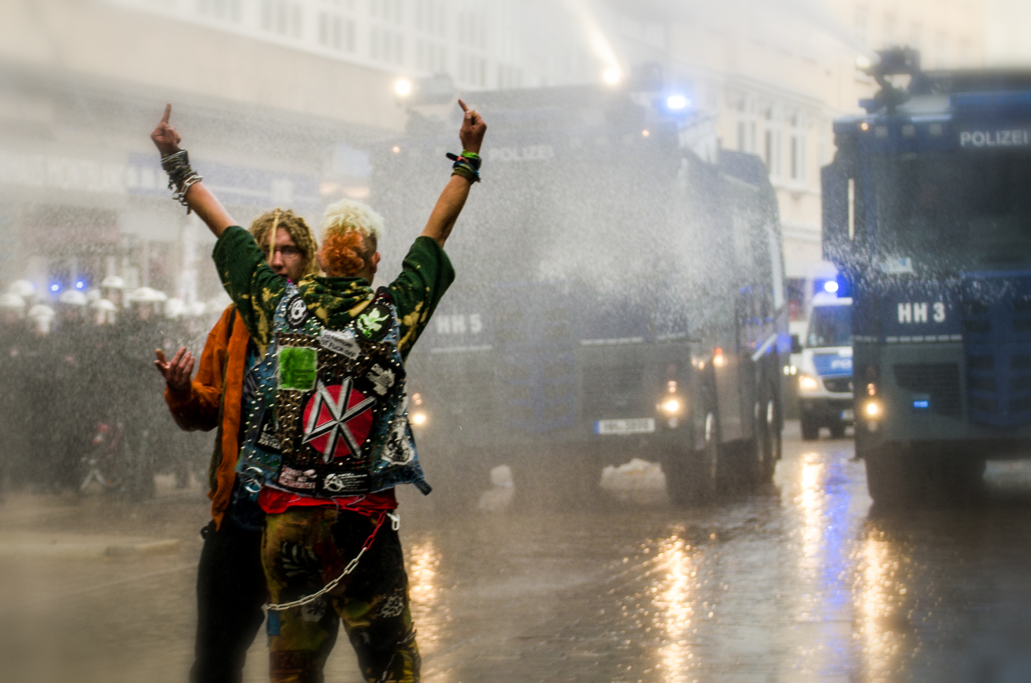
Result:
M376 252L384 217L369 206L342 199L326 207L319 251L326 274L354 277Z

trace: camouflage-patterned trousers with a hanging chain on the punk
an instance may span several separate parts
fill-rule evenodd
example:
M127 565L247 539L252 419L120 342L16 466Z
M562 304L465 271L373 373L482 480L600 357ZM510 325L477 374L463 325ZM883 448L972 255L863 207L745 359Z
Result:
M375 519L335 508L289 508L266 516L262 564L273 604L318 591L361 550ZM420 656L408 608L408 577L388 519L355 571L320 600L266 622L273 683L322 683L340 622L365 680L419 681Z

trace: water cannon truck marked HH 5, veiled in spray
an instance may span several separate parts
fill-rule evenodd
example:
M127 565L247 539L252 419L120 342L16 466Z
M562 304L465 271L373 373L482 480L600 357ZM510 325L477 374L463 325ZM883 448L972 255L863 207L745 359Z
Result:
M762 162L685 146L711 122L659 89L465 99L491 128L484 179L407 361L434 496L475 500L506 464L520 497L580 501L634 457L661 463L685 504L769 481L790 337ZM453 129L413 111L373 156L389 225L425 221Z

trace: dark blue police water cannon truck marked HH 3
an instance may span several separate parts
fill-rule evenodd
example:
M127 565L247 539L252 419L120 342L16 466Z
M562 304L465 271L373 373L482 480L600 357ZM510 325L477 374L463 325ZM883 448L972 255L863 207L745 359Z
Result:
M923 71L901 48L870 73L823 169L857 455L878 503L976 500L986 458L1031 443L1031 71Z

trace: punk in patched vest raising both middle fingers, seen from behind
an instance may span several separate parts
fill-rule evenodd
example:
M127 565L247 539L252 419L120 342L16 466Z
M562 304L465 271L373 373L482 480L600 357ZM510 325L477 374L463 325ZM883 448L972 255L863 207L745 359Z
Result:
M171 105L152 134L175 197L219 238L219 275L263 351L245 380L256 400L236 471L266 513L276 682L321 681L341 618L366 680L420 677L394 486L430 490L408 426L404 358L454 279L442 247L479 179L487 126L459 104L464 150L450 155L452 178L401 274L377 291L381 218L371 209L330 207L319 252L326 276L291 282L201 184L168 124Z

